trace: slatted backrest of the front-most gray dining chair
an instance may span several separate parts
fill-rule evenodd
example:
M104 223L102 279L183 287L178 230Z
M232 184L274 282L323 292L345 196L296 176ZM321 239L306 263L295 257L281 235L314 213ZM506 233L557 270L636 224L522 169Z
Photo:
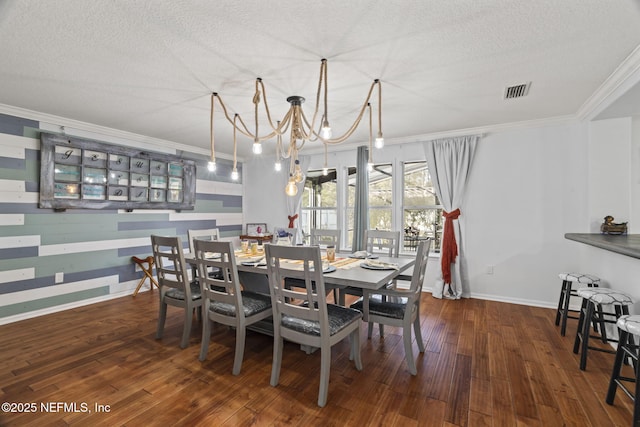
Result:
M265 245L265 256L274 327L278 327L282 319L289 316L319 322L320 335L328 334L327 301L320 248ZM285 286L285 279L297 279L297 287ZM299 332L288 328L280 328L280 331L282 337L288 338L293 335L297 338L296 342L300 342L302 334ZM308 344L311 345L312 342Z

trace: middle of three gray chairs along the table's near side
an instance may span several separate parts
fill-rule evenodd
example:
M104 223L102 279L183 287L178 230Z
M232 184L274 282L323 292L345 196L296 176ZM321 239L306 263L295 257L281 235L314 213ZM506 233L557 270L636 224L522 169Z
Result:
M271 298L269 295L241 290L231 242L195 239L194 247L204 316L199 359L203 361L207 357L212 322L232 326L236 330L232 373L238 375L244 358L247 326L271 316ZM218 269L221 274L208 275L207 271L212 268Z

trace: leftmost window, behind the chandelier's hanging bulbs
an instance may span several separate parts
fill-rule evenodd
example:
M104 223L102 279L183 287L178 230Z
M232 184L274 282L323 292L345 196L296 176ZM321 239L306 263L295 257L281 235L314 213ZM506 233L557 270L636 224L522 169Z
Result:
M308 236L312 228L338 228L336 170L329 169L327 175L321 170L308 171L302 193L300 209L300 227L304 243L309 243Z

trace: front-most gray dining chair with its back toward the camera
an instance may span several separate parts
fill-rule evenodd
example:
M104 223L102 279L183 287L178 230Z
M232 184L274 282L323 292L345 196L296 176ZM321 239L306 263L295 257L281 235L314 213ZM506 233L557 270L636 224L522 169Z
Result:
M349 360L362 370L360 319L362 313L327 304L320 248L317 246L266 245L269 290L273 307L273 365L271 385L277 386L284 340L320 348L318 406L327 403L331 347L349 337ZM292 263L291 261L295 261ZM287 288L286 278L304 282L303 288Z

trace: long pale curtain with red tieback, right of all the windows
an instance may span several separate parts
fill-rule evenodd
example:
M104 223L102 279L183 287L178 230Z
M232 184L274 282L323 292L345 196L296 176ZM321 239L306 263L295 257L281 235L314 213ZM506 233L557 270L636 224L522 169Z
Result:
M424 143L431 181L444 207L445 218L449 217L445 219L443 230L442 271L432 292L436 298L459 299L463 290L467 290L461 271L461 265L464 264L464 234L458 216L463 217L465 214L461 208L478 139L479 136L475 135L437 139ZM451 242L445 242L447 233L455 236L452 245ZM447 245L446 248L445 245Z

